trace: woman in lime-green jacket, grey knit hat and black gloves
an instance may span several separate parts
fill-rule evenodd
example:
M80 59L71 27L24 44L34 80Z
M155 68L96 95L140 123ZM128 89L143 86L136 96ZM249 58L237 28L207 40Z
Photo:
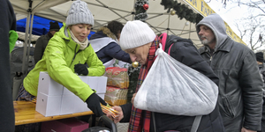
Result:
M101 116L100 103L106 105L105 101L77 75L102 76L105 71L88 43L87 35L92 26L94 18L87 3L74 1L64 26L49 40L42 60L36 63L34 70L24 79L18 99L34 99L37 96L40 71L48 71L49 77L87 102L88 108Z

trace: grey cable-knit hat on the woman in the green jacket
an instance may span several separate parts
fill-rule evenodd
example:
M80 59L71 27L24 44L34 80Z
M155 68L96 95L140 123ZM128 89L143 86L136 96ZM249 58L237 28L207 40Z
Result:
M94 17L89 11L87 3L80 0L73 2L65 23L66 26L76 24L88 24L94 26Z

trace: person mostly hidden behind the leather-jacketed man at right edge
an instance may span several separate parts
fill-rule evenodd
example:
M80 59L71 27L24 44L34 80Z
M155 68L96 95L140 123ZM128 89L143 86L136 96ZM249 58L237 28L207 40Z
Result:
M256 60L259 66L261 79L263 82L262 95L263 95L263 105L262 105L262 118L261 118L261 132L265 132L265 66L264 66L264 55L262 52L255 54Z

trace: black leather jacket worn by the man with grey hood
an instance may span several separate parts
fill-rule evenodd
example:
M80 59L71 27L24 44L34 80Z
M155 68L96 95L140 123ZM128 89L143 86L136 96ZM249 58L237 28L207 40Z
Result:
M219 106L226 130L239 131L242 124L244 128L259 130L262 81L254 52L230 38L212 56L207 47L199 51L219 77Z

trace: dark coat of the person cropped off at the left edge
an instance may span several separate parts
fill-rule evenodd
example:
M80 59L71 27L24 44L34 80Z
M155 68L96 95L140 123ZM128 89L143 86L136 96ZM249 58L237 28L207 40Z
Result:
M16 15L8 0L0 0L0 131L15 130L11 94L9 31L16 31Z

